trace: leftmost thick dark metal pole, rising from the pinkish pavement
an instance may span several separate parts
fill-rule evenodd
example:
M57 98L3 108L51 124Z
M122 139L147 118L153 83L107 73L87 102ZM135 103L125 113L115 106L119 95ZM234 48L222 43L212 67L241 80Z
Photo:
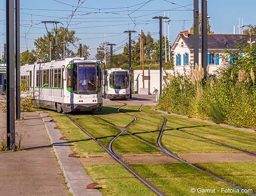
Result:
M15 149L14 0L6 0L7 147Z

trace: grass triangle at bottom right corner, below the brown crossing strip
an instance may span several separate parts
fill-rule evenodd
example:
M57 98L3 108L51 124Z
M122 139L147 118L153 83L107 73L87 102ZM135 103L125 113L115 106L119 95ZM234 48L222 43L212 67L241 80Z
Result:
M196 165L244 189L253 189L256 193L256 162L198 163Z

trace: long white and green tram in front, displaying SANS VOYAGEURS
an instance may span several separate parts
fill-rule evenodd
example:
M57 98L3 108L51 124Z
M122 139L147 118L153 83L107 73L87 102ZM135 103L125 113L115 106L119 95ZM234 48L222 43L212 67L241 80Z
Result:
M33 89L34 103L58 112L102 110L100 61L66 58L20 67L20 78Z

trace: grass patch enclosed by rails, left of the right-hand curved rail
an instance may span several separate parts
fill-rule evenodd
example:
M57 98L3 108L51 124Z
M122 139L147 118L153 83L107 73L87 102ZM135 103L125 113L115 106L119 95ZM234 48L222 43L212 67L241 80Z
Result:
M157 138L162 125L163 118L159 116L137 116L137 121L127 131L153 145L157 145Z

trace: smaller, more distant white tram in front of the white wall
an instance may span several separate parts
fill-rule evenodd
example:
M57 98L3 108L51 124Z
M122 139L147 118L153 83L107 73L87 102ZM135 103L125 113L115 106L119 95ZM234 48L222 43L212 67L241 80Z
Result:
M130 96L129 71L111 68L105 71L105 92L108 99L128 99Z

